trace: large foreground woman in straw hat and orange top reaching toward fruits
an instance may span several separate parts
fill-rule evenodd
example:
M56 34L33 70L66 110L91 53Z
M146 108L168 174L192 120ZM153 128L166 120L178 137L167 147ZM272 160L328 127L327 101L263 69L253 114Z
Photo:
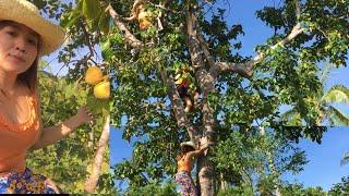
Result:
M49 179L26 168L26 154L93 121L81 107L63 123L41 127L38 60L60 47L64 35L26 0L0 0L0 194L58 193Z

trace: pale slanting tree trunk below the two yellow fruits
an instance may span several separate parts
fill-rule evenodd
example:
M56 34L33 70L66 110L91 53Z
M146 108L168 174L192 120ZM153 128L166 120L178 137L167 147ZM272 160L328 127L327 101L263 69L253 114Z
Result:
M85 191L87 193L94 193L97 187L97 183L98 183L98 179L101 170L103 158L109 140L109 131L110 131L109 122L110 122L110 117L108 115L106 118L106 122L104 124L103 132L98 142L95 162L93 163L93 167L92 167L92 174L88 176L88 179L85 182Z

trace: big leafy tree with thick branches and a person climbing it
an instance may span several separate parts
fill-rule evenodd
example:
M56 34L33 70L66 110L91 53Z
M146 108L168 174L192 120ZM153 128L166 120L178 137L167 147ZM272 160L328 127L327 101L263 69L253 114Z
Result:
M107 7L113 26L101 49L115 73L111 122L124 126L124 139L137 139L132 160L115 171L118 179L130 179L131 186L173 175L182 140L198 144L207 137L216 145L233 126L241 132L253 123L278 127L284 105L293 105L306 125L315 125L321 115L315 93L322 89L316 64L328 60L346 65L347 1L285 0L257 11L275 35L256 47L255 57L239 53L243 27L228 26L226 10L217 2L121 0ZM140 4L148 13L147 29L134 20ZM190 83L192 99L198 94L190 112L177 88L180 79ZM323 131L275 130L317 142ZM202 195L216 192L217 166L209 157L197 161Z

